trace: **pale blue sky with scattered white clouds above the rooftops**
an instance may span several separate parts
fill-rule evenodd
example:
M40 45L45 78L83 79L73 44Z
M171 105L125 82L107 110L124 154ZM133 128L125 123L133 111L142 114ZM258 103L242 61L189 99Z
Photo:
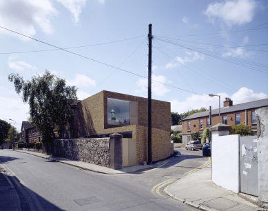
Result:
M0 119L21 130L29 117L11 73L27 81L48 70L81 100L102 90L147 97L150 23L152 98L173 112L218 108L208 94L220 106L267 98L268 1L9 0L0 1Z

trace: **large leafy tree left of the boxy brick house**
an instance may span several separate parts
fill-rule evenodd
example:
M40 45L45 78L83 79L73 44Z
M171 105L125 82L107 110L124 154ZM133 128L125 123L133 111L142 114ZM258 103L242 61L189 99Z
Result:
M65 79L54 76L48 70L24 81L19 74L10 74L17 94L30 107L30 121L41 133L43 143L52 143L56 125L70 123L73 117L72 104L77 100L76 88L66 86Z

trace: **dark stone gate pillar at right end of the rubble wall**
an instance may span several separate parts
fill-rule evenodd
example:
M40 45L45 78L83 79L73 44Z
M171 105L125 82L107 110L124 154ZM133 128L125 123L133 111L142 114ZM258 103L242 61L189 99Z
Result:
M121 169L123 167L122 135L114 133L110 135L110 168Z

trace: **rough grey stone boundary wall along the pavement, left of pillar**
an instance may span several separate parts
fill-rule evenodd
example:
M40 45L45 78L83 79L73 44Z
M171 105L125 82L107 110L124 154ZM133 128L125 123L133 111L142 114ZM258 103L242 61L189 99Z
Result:
M83 161L96 165L110 166L109 138L103 139L56 139L54 152L56 157Z

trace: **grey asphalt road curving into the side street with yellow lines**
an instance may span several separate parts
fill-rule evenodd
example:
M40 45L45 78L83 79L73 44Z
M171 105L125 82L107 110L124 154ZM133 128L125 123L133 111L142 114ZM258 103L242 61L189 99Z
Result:
M207 158L198 151L179 150L159 168L120 176L12 150L1 150L0 160L14 176L24 210L196 210L170 199L163 188Z

